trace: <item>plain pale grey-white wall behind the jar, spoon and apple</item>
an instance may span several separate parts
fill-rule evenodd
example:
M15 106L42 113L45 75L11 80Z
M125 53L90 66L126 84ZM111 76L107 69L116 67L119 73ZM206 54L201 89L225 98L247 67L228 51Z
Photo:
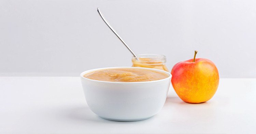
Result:
M131 66L131 54L167 56L167 66L209 58L221 78L256 78L254 0L0 0L0 76L79 76Z

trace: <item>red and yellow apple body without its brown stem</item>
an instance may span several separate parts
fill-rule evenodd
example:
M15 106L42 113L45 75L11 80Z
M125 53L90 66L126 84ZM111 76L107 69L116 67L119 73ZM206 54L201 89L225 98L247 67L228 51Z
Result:
M219 85L219 73L214 63L196 58L175 64L171 71L172 86L177 95L187 103L210 100Z

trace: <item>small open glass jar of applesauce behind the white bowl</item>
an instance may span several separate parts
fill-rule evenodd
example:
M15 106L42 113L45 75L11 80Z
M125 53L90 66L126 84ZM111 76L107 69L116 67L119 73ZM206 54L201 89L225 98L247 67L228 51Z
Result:
M158 55L158 54L140 54L137 55L139 60L135 57L132 57L132 67L147 67L147 68L155 68L160 70L165 70L169 72L166 67L166 56Z

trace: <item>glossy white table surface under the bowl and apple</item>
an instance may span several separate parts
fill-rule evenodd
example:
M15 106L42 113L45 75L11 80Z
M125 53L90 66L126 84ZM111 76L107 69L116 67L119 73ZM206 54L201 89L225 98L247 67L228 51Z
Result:
M221 79L206 103L183 102L170 87L162 110L135 122L102 119L79 77L0 77L0 133L256 133L256 79Z

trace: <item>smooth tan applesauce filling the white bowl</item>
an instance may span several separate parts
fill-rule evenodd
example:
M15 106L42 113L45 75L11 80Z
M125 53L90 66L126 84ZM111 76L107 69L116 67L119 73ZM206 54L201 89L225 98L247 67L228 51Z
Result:
M94 72L89 72L84 75L85 78L112 81L112 82L143 82L165 79L168 74L139 68L117 68L103 69Z

